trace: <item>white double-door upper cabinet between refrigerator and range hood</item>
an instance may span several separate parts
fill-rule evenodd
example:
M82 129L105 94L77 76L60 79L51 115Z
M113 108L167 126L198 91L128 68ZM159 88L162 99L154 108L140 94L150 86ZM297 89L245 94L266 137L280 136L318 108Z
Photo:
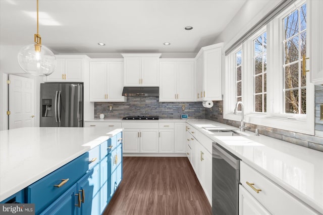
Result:
M90 61L90 101L125 102L123 90L123 60L95 59Z

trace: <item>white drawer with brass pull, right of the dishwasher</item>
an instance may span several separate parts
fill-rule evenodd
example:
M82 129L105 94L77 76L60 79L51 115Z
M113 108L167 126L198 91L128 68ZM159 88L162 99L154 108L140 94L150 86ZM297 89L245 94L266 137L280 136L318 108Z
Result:
M272 214L317 214L299 199L243 162L240 162L240 182ZM261 191L257 193L247 182L253 183L254 185L251 186Z

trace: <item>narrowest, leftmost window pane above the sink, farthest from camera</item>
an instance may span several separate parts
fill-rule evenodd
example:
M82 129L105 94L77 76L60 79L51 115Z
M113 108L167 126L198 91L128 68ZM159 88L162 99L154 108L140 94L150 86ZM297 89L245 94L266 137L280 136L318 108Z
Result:
M235 77L236 77L236 102L242 101L242 50L235 54ZM241 106L238 106L238 110L241 111Z

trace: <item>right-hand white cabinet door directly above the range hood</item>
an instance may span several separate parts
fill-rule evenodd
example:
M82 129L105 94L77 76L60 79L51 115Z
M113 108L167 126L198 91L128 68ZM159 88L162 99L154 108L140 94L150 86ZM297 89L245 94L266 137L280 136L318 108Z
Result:
M141 58L142 86L159 86L159 59L157 57Z

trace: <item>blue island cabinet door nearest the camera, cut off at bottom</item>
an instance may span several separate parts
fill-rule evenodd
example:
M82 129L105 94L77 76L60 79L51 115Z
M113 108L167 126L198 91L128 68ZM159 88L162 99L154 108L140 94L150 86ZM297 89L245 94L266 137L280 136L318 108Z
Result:
M77 205L78 204L78 195L76 184L74 184L70 189L68 189L63 195L61 195L55 202L49 205L41 215L76 215Z

